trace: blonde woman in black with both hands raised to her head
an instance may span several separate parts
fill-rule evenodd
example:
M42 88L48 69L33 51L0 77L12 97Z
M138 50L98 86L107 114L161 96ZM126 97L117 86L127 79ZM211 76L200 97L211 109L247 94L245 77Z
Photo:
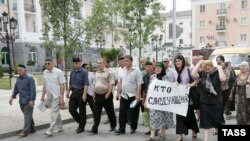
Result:
M202 71L198 71L202 66ZM223 104L221 82L226 81L222 66L213 66L210 60L200 60L191 73L195 79L200 79L200 128L204 129L204 141L208 141L210 128L221 124Z

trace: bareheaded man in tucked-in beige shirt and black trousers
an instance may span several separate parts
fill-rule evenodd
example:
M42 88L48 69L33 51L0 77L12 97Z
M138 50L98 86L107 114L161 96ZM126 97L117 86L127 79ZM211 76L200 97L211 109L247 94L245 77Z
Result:
M110 131L115 131L116 118L113 103L112 89L115 84L114 79L108 69L105 68L104 59L98 59L98 70L94 76L94 100L95 100L95 114L94 125L90 131L93 134L98 133L98 126L101 120L102 108L104 107L108 119L110 121Z

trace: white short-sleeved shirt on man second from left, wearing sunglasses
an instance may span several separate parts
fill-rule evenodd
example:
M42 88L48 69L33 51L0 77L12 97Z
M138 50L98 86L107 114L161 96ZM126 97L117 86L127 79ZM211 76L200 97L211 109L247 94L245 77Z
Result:
M44 70L43 78L46 92L52 94L54 99L60 97L60 85L65 83L63 72L53 67L51 71Z

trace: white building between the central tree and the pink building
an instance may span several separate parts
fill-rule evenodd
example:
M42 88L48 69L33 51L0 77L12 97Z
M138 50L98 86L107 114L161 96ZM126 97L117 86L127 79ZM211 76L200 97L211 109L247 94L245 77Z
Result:
M167 55L170 59L173 56L173 50L178 50L183 56L188 59L190 62L190 58L192 56L192 36L191 36L191 10L187 11L177 11L176 12L176 47L173 47L173 13L170 11L169 13L165 13L162 15L164 17L164 44L165 55Z

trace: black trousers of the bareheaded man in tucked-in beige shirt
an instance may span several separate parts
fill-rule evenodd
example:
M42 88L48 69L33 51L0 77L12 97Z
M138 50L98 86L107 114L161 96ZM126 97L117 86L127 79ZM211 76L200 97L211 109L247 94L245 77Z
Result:
M111 128L116 127L113 94L111 94L108 99L105 99L105 94L96 94L95 106L94 106L94 109L95 109L94 110L94 125L92 127L92 131L98 132L98 126L100 124L103 107L108 115L108 119L110 121L110 127Z

